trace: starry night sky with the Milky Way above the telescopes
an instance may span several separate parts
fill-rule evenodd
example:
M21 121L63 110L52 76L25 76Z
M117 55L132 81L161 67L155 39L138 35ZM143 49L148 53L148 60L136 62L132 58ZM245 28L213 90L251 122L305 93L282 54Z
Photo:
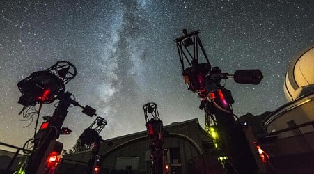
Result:
M18 115L17 83L59 60L78 71L66 90L108 121L103 139L146 129L148 102L157 103L164 125L198 118L204 127L173 42L185 28L200 30L212 66L262 71L259 85L226 81L234 113L259 115L287 102L288 63L314 44L314 1L0 1L0 142L22 147L32 138L36 117ZM53 111L43 105L39 123ZM95 120L79 107L68 111L63 127L73 132L61 135L65 149Z

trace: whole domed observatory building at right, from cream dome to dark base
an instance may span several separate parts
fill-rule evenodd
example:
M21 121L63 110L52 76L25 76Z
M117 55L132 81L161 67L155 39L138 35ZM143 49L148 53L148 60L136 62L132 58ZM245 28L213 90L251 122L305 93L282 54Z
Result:
M314 166L314 47L293 59L283 85L288 103L262 122L263 148L284 173L311 173ZM289 170L289 171L288 171Z

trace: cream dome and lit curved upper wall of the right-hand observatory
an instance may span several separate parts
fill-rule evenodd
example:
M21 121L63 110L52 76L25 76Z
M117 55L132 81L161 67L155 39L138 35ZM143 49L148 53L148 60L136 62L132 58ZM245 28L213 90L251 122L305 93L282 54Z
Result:
M267 133L304 125L314 120L314 47L292 60L285 75L283 91L288 103L264 120L263 126ZM313 130L314 127L310 124L299 128L299 133L285 132L278 136L283 138Z

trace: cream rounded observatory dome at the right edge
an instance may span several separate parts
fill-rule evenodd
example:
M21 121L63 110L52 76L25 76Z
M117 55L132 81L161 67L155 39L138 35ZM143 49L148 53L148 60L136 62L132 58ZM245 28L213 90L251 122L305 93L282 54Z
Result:
M314 47L292 60L283 90L288 101L314 92Z

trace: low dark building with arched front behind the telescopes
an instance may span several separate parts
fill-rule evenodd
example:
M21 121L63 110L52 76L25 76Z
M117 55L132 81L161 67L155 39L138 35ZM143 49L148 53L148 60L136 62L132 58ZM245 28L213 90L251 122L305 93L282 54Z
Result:
M164 135L163 145L168 149L167 162L177 173L188 173L188 161L207 152L212 144L212 138L201 128L197 119L175 122L164 126L164 130L167 132ZM150 173L151 141L146 131L104 140L100 144L100 155L101 165L106 168L105 173L123 173L129 166L132 166L132 173ZM72 171L71 168L75 165L84 166L90 158L91 151L64 155L63 159L79 161L79 163L64 160L61 171L63 173Z

